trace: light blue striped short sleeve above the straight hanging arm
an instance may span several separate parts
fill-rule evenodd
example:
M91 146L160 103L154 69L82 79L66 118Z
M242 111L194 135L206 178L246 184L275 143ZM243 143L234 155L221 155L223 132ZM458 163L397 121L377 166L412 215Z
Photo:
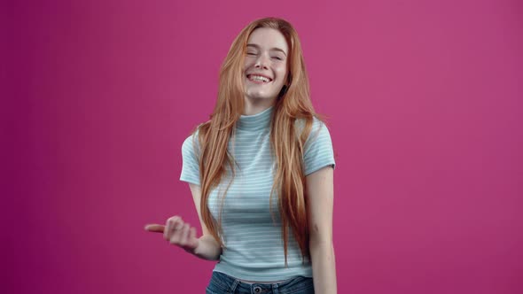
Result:
M314 119L303 152L304 174L312 174L325 166L334 168L334 151L329 129L321 120Z

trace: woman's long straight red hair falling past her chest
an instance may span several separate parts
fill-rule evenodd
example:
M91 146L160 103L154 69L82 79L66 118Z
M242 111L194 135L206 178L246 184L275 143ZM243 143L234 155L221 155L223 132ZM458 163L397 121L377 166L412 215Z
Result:
M234 159L227 146L244 111L244 58L249 36L258 27L277 29L289 47L286 89L280 92L274 105L270 127L270 144L277 169L270 199L278 191L278 208L282 221L285 265L289 231L300 245L301 255L308 257L308 213L303 174L303 146L316 116L310 102L308 75L301 52L301 43L293 26L284 19L257 19L246 26L230 46L220 70L218 99L211 119L199 126L199 176L201 184L200 213L216 241L223 246L220 218L215 221L207 205L210 191L222 181L227 167L234 173ZM295 121L303 120L304 128L295 128ZM234 175L234 174L233 174ZM269 200L270 201L270 200Z

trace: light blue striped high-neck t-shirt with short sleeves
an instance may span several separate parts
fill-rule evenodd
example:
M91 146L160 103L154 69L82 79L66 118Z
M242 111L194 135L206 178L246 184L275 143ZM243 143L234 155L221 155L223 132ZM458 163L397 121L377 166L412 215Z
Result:
M256 282L281 281L300 275L312 277L310 261L302 259L300 246L294 240L291 229L285 267L277 190L272 196L272 207L269 210L269 195L275 174L269 137L273 109L274 106L239 118L235 135L230 138L228 146L237 163L236 175L232 182L230 175L225 176L221 184L211 190L208 198L209 209L215 220L221 217L225 246L215 271ZM198 132L183 142L180 180L199 185L197 135ZM329 130L316 118L304 146L303 160L305 175L324 166L335 165ZM224 197L229 183L229 190Z

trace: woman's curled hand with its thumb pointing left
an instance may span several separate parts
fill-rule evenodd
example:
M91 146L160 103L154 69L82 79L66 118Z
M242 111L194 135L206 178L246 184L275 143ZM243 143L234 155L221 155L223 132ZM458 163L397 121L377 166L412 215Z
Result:
M166 221L166 225L148 224L145 230L155 233L163 233L163 238L169 244L182 247L185 251L194 254L199 245L199 239L196 237L196 228L183 222L182 218L175 215Z

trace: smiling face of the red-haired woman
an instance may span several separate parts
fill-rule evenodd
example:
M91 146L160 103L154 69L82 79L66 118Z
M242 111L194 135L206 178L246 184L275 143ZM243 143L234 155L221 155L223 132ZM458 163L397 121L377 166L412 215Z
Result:
M244 81L247 99L275 100L287 78L289 48L274 28L256 28L247 40Z

